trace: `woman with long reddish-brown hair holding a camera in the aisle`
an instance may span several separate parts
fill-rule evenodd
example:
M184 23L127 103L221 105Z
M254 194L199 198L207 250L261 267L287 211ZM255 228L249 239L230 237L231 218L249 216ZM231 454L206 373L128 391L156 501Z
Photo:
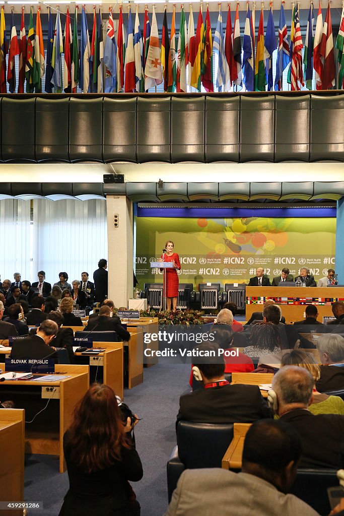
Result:
M128 480L140 480L143 472L131 430L112 389L93 384L63 436L69 491L59 516L139 516Z

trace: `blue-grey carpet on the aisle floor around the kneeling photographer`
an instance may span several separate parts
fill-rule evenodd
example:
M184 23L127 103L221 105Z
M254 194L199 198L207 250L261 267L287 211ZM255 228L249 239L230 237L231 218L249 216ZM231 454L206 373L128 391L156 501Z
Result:
M158 364L144 369L141 385L124 391L126 404L142 418L135 439L144 474L133 483L141 516L161 516L166 511L166 463L175 446L179 396L190 390L189 375L190 364ZM67 472L58 473L57 457L26 455L25 501L43 502L43 510L34 514L58 516L68 486Z

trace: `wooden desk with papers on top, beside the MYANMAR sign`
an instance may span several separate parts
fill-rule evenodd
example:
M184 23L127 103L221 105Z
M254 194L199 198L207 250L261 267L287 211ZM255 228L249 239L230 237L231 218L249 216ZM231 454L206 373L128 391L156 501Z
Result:
M98 344L101 345L98 346ZM106 349L99 355L87 356L82 353L74 353L74 356L77 362L85 363L87 361L90 367L99 367L101 371L97 378L103 376L103 383L109 385L114 393L123 399L123 343L114 342L113 345L112 348ZM103 343L97 343L95 347L104 348ZM90 382L93 382L91 375Z

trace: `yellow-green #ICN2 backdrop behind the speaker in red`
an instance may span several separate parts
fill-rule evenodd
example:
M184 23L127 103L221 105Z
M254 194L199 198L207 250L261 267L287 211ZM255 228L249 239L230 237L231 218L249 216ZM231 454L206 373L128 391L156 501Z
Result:
M317 281L328 268L335 268L335 234L335 214L317 218L252 213L223 218L138 216L138 287L162 282L161 271L151 269L150 262L161 256L166 240L174 242L181 258L179 282L196 288L204 282L248 282L258 267L272 280L283 267L295 276L306 266Z

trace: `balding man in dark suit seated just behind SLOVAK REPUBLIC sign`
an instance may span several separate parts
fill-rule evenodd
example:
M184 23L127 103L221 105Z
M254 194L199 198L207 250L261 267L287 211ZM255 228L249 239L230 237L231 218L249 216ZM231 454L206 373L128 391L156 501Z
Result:
M18 338L13 341L11 358L43 359L56 351L51 346L57 334L58 327L52 320L44 320L38 328L36 335Z

